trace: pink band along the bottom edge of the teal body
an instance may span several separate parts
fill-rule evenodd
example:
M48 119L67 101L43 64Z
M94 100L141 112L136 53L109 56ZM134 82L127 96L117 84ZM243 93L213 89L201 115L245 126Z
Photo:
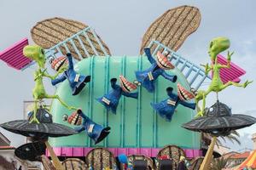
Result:
M55 150L56 156L86 156L90 150L93 148L82 148L82 147L58 147L53 148ZM119 154L129 155L143 155L149 157L156 157L160 148L108 148L109 151L113 153L114 156L119 156ZM186 156L193 158L196 156L202 156L201 150L191 150L184 149ZM47 150L46 156L49 156L49 151Z

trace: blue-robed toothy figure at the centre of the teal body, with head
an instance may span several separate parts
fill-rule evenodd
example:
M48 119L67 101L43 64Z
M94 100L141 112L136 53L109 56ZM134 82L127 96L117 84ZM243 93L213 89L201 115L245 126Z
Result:
M114 114L116 113L116 109L119 105L119 99L122 95L130 98L137 99L137 92L136 93L130 93L131 90L136 89L136 85L132 84L131 82L128 82L125 80L125 77L120 76L120 84L116 84L117 79L112 78L110 80L111 88L113 88L108 94L103 95L101 98L96 99L98 102L100 102L102 105L104 105L107 110L111 110Z

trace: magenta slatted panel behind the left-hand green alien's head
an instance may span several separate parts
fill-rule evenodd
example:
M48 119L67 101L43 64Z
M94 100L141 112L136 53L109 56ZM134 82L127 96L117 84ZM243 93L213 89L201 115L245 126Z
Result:
M16 70L21 70L32 63L32 59L28 59L23 55L23 48L28 45L27 38L16 42L11 47L0 52L0 59L2 59L7 65Z

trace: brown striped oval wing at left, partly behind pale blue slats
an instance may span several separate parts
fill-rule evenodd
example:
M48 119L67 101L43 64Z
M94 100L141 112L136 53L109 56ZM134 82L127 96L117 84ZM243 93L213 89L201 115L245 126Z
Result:
M73 36L75 34L77 36ZM32 27L31 37L36 44L45 49L55 47L55 44L60 43L56 45L60 51L55 52L61 52L62 55L70 52L77 60L92 55L111 55L106 43L93 29L75 20L55 17L39 21L36 26ZM70 38L70 41L63 42L67 38Z

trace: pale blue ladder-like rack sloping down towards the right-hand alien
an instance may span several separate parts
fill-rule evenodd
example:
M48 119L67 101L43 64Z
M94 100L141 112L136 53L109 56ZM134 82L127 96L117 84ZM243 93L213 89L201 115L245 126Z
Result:
M206 75L206 72L200 66L195 65L188 59L183 58L181 55L174 52L171 48L167 48L165 45L158 41L151 41L148 45L148 48L151 48L154 45L156 45L156 48L154 48L152 55L155 55L157 51L161 51L162 53L165 51L168 52L171 55L171 58L169 59L172 62L172 65L175 65L177 69L183 73L191 88L195 88L195 90L197 90L201 87L201 84L206 79L212 79L212 77Z

